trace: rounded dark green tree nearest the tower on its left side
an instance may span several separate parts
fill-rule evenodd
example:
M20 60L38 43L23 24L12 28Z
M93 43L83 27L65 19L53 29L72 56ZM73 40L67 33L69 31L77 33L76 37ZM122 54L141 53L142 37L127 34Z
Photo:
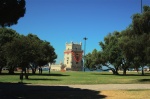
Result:
M30 60L30 67L32 73L35 74L38 66L46 65L48 62L53 63L57 58L55 49L47 41L40 40L36 35L28 34L27 37L30 39L32 45L32 60Z

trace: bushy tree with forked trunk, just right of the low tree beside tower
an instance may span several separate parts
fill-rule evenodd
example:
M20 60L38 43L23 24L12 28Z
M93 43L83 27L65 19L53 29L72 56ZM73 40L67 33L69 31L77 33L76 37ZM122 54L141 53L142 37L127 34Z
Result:
M103 59L105 59L105 66L112 70L113 74L119 74L118 69L122 64L122 53L119 48L118 42L120 39L120 33L115 31L104 38L104 42L100 42L100 46L103 51ZM112 68L109 65L112 65Z

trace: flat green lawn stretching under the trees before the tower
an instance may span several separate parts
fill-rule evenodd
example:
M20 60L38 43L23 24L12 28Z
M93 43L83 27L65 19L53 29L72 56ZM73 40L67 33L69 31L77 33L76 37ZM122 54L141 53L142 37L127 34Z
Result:
M0 82L18 83L19 74L0 75ZM42 75L29 75L29 79L23 80L30 84L50 84L50 85L69 85L69 84L150 84L150 72L145 76L137 72L128 72L126 76L112 75L110 72L44 72Z

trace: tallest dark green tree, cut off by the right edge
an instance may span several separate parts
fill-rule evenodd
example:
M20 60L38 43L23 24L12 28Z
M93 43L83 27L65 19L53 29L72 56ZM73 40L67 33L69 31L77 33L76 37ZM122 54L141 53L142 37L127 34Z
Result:
M144 75L144 66L149 64L149 36L150 36L150 7L144 6L144 12L141 14L134 14L132 17L133 33L131 34L135 41L135 57L136 64L141 66L142 75Z

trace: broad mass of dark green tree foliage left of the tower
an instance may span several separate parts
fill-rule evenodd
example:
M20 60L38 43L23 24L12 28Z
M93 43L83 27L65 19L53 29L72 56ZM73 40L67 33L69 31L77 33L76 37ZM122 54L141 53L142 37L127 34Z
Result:
M53 46L33 34L24 36L14 30L1 28L0 41L0 69L7 65L9 73L13 73L16 67L26 70L30 66L36 70L37 66L52 63L57 58Z

